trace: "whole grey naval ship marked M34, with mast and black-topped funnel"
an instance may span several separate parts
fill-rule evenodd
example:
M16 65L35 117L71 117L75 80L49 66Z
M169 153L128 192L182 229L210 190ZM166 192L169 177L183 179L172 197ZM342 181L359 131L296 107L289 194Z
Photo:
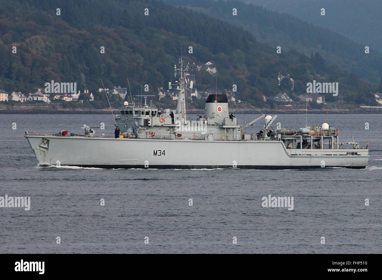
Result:
M186 114L188 64L179 59L174 66L177 80L175 110L163 112L152 101L136 106L125 102L113 115L115 137L96 135L83 125L82 134L61 130L56 134L25 132L40 166L97 168L256 168L301 169L322 167L365 168L367 146L339 142L338 130L328 123L299 129L272 127L277 115L262 114L244 122L228 109L225 94L209 94L205 114L191 119ZM246 128L264 119L257 133Z

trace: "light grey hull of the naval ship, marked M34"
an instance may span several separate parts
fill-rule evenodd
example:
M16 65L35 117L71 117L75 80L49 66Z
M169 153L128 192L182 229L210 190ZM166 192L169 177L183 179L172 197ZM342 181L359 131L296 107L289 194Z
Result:
M161 169L365 168L369 159L367 149L285 149L282 141L25 137L40 166L59 164Z

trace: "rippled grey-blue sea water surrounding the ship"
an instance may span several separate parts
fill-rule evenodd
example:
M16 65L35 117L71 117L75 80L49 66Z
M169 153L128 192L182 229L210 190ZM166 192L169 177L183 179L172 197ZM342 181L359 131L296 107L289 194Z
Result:
M311 126L324 120L308 115ZM328 116L340 141L370 143L363 170L38 168L24 138L26 130L81 132L101 122L106 130L97 132L112 134L111 115L0 114L0 196L31 197L29 211L0 208L2 253L382 252L382 115ZM305 115L276 122L298 129ZM294 209L263 208L269 194L294 197Z

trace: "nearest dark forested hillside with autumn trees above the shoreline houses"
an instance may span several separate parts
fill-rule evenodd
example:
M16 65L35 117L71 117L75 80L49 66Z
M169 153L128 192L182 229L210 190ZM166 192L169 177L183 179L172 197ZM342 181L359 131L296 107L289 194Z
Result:
M248 30L154 0L1 0L0 30L0 88L10 92L33 92L50 80L77 82L78 89L95 92L102 87L101 78L109 88L127 86L128 78L133 92L148 84L157 95L157 88L170 80L181 46L198 90L215 88L215 77L196 70L213 61L218 90L236 84L241 100L256 106L263 104L264 94L306 93L306 83L316 75L339 82L345 101L357 104L374 104L370 91L377 87L325 62L319 53L277 54ZM13 46L17 53L12 53ZM100 52L102 46L105 53ZM293 91L278 86L279 72L294 78ZM335 97L329 94L327 100Z

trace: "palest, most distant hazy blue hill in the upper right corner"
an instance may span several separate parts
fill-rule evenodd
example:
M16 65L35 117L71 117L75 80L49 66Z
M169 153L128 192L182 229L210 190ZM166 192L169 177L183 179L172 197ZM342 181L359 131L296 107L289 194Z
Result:
M379 47L382 45L380 0L244 0L244 2L291 14L380 51ZM325 16L320 15L321 8L325 8Z

